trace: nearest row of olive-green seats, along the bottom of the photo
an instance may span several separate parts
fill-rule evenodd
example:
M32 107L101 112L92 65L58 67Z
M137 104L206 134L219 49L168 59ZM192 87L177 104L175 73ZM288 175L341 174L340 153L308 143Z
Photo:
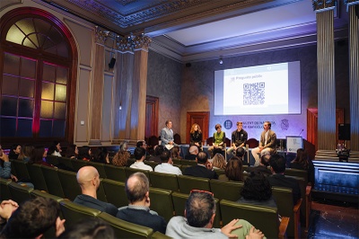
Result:
M113 226L118 238L167 238L160 233L153 234L151 228L127 223L99 210L77 205L69 199L63 199L42 190L33 190L13 181L1 179L0 182L2 199L13 199L19 203L33 197L48 197L57 200L62 212L61 217L66 219L66 226L73 225L77 220L83 217L100 217ZM120 205L121 202L119 201L126 199L125 184L123 182L104 179L102 180L102 184L106 191L108 191L107 189L112 191L111 195L106 195L109 202L115 200L114 202L117 203L117 205L115 204L117 207L127 205L127 200L123 202L125 205ZM292 196L291 190L286 190L286 193L288 197ZM151 208L157 211L162 217L165 217L167 221L173 216L184 216L188 193L150 188L150 197ZM267 235L267 238L283 237L285 235L284 232L279 233L280 226L278 226L277 208L253 206L244 203L240 204L226 199L215 199L215 203L215 227L228 224L233 218L241 217L249 220L251 224L260 228L260 230ZM286 229L288 221L289 217L284 217L281 226ZM53 233L54 232L51 232L51 234Z

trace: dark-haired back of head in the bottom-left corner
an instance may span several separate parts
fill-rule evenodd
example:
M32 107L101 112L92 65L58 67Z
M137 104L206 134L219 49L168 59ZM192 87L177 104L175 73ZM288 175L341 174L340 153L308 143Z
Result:
M29 199L13 212L0 237L35 238L55 226L59 214L56 200L41 197Z

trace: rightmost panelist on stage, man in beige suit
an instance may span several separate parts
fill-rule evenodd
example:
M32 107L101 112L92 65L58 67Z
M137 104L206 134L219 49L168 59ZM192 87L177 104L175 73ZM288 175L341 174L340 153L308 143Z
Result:
M258 154L263 155L265 151L269 151L270 154L276 152L276 133L271 129L272 124L269 121L264 122L263 132L260 134L259 146L251 150L251 153L256 160L254 166L259 165Z

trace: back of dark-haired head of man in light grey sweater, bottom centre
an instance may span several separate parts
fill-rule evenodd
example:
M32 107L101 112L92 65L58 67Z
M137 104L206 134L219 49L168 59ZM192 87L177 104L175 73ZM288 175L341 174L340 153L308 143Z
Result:
M205 191L191 192L186 201L186 218L189 226L205 227L215 214L215 199Z

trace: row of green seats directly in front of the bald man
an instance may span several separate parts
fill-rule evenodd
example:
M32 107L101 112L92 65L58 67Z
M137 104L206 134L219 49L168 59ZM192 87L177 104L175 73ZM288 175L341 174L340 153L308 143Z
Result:
M186 160L183 161L185 162ZM57 195L58 197L71 200L73 200L78 194L81 194L81 190L78 187L76 181L76 173L74 172L50 168L47 166L40 166L36 164L25 164L21 161L13 161L13 165L13 168L16 168L16 170L21 168L22 173L28 172L27 175L34 183L36 189L46 190L53 195ZM116 173L114 174L116 174L117 177L118 174L122 174L122 180L114 181L110 179L101 179L101 187L98 191L98 199L108 201L117 206L118 208L126 206L127 197L125 193L124 181L131 173L135 173L139 170L128 167L121 168L108 164L102 164L102 166L104 166L104 168L109 167L113 170L116 170ZM18 173L18 171L16 171L16 173ZM19 173L18 175L23 175ZM162 217L165 217L166 220L169 220L173 216L172 210L169 210L168 208L173 207L171 206L172 202L174 202L175 200L173 199L173 195L176 196L176 193L182 193L186 195L185 197L187 197L190 190L199 189L213 191L215 193L215 197L218 200L224 199L224 201L235 201L241 197L240 191L241 187L243 186L242 182L208 180L203 178L195 178L184 175L177 176L166 173L144 173L150 179L152 185L152 188L150 189L150 195L152 198L151 208L159 212L159 214L162 215ZM304 190L304 192L302 192L302 195L305 195L306 181L303 178L297 179L300 181L302 190ZM298 208L301 206L301 203L295 206L293 206L293 203L290 203L293 201L292 190L274 188L273 193L277 201L279 214L281 216L292 218L287 230L288 235L298 235L298 228L300 226ZM163 207L163 198L167 198L165 201L168 202L168 207ZM217 216L216 218L216 225L219 226L221 217Z

